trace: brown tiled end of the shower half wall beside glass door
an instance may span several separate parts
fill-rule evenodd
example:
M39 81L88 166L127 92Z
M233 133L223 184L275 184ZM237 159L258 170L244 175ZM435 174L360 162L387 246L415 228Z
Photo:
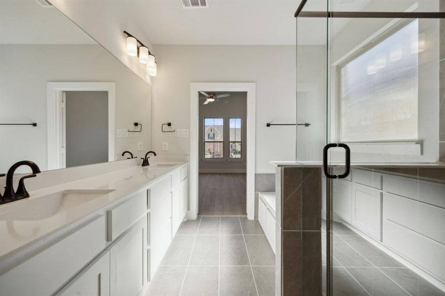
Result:
M321 168L282 168L283 296L321 295Z

